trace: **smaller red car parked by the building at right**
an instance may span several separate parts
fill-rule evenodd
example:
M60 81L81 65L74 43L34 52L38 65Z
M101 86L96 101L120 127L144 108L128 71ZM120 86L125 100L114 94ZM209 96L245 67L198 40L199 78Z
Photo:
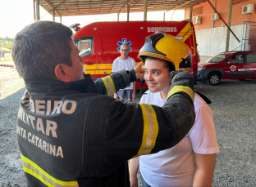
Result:
M256 51L222 52L198 65L198 80L216 86L221 79L256 78Z

